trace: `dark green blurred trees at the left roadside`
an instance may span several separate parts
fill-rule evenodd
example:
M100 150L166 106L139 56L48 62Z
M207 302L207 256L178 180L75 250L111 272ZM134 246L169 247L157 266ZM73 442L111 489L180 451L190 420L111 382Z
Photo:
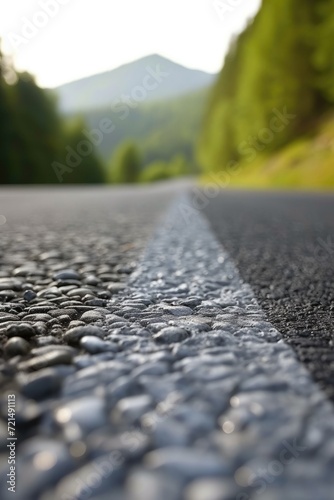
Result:
M75 169L65 163L66 148L83 139L80 126L67 130L53 95L31 75L16 73L0 50L0 184L103 182L94 151ZM63 165L66 177L56 175L54 162Z

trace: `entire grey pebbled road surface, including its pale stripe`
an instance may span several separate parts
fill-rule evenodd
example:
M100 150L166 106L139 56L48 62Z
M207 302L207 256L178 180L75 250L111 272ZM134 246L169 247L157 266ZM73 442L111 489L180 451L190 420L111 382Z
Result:
M332 500L332 199L198 193L0 191L1 499Z

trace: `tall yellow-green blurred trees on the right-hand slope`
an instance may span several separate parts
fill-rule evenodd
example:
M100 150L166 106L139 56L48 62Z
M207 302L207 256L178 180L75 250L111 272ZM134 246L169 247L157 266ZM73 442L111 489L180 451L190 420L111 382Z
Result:
M198 148L207 172L311 131L334 104L334 0L263 0L233 41Z

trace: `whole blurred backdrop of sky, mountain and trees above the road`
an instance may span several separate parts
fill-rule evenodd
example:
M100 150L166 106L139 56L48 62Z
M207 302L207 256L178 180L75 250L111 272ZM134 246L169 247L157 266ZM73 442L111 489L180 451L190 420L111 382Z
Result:
M0 184L334 187L334 0L0 0Z

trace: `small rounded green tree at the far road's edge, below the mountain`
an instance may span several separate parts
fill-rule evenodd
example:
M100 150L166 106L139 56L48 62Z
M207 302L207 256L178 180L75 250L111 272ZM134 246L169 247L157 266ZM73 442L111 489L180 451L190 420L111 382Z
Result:
M138 182L142 160L137 146L130 141L115 151L109 166L109 181L117 184Z

